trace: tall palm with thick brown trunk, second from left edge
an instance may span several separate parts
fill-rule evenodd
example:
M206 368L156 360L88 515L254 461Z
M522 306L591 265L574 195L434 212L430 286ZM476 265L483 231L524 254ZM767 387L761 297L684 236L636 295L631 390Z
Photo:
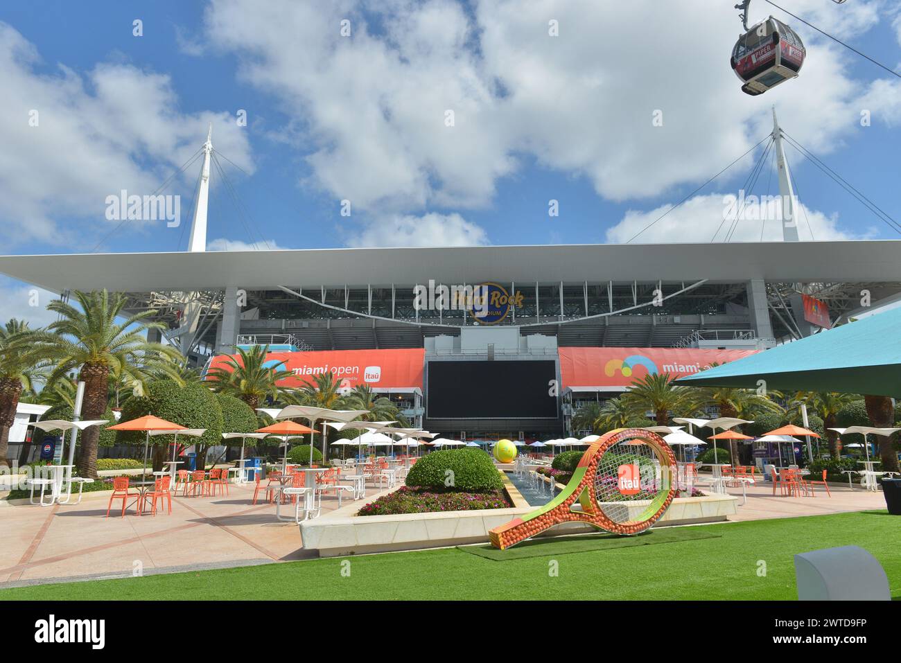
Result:
M174 348L150 343L144 334L150 329L163 329L159 322L145 322L154 310L123 313L127 302L121 293L106 290L74 293L78 307L56 299L47 310L59 314L47 332L35 332L42 357L55 368L48 381L55 382L71 371L85 383L83 419L103 419L109 403L110 375L121 375L129 384L143 385L152 371L162 371L177 379ZM118 318L122 317L122 322ZM81 437L78 469L83 477L97 477L97 440L100 429L86 429Z

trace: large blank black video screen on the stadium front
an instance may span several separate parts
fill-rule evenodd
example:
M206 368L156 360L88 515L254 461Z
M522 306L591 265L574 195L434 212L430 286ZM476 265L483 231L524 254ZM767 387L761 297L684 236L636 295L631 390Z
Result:
M556 419L556 378L553 361L430 361L425 416Z

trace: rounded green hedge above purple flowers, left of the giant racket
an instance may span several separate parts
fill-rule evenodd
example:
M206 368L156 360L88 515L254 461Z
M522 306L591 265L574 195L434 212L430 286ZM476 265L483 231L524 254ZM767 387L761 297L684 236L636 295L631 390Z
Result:
M452 479L451 486L445 485L448 479ZM432 451L417 460L406 476L406 485L478 493L500 490L504 482L485 451L464 447Z

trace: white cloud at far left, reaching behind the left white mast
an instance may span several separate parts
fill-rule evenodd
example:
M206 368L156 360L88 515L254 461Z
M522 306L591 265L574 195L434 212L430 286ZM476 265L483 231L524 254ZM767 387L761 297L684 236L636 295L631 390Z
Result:
M31 240L93 248L112 223L105 197L152 193L203 143L252 170L250 146L234 118L183 114L168 76L127 64L86 74L59 64L39 73L35 47L0 23L0 232L8 247ZM38 125L29 120L37 112ZM164 193L190 195L197 170ZM67 223L61 223L66 220Z

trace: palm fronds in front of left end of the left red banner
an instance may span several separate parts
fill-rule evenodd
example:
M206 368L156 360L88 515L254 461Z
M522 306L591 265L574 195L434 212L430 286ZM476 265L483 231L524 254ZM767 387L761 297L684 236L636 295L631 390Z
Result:
M278 398L278 368L285 362L267 361L268 349L268 345L238 348L237 357L229 357L207 372L210 386L214 391L240 398L254 411L268 397Z

